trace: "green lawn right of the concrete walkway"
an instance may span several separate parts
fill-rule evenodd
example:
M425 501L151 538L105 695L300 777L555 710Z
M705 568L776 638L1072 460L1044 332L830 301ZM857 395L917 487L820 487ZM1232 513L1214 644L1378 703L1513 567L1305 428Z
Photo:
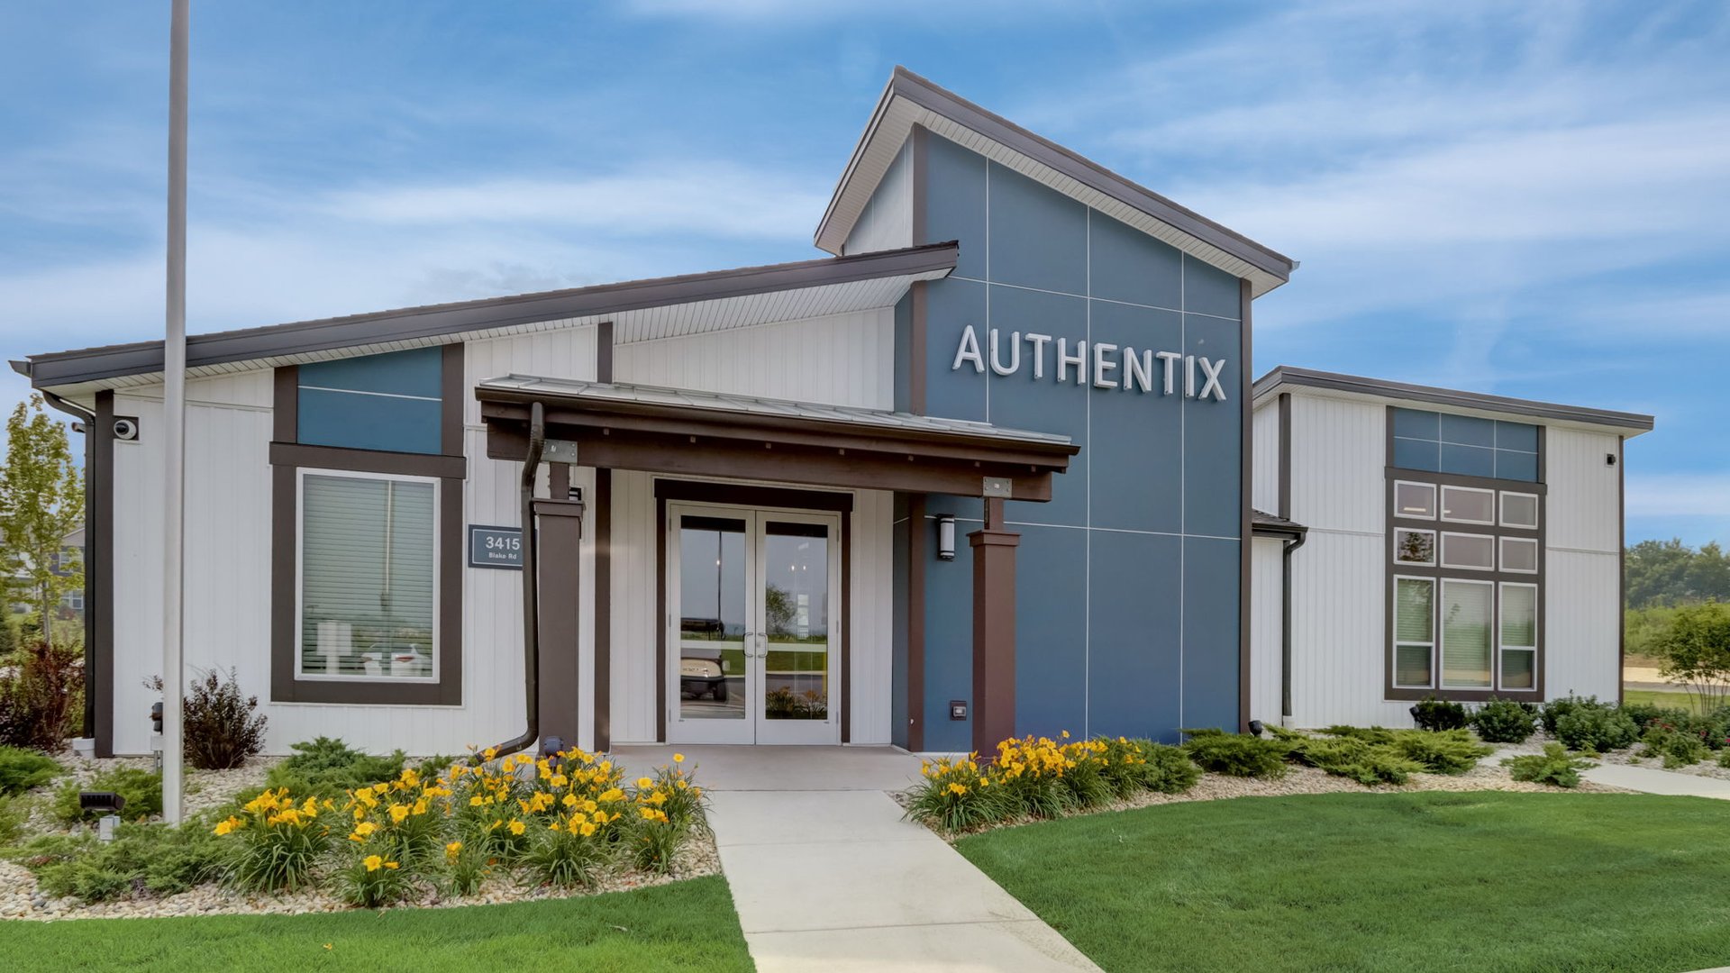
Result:
M1730 964L1730 803L1242 798L1005 828L974 864L1109 971Z

